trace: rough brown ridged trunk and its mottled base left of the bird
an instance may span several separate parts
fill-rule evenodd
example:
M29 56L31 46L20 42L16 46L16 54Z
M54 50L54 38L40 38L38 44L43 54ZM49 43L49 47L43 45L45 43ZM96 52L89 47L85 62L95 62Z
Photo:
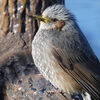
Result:
M47 98L40 92L36 97L33 95L40 89L37 86L40 80L42 85L46 84L44 90L53 88L37 75L39 72L31 57L31 43L39 22L28 14L41 14L55 3L64 4L64 0L0 0L0 100L40 100L37 99L40 95ZM33 88L33 83L38 89ZM45 100L43 98L41 100ZM54 98L58 100L56 96Z

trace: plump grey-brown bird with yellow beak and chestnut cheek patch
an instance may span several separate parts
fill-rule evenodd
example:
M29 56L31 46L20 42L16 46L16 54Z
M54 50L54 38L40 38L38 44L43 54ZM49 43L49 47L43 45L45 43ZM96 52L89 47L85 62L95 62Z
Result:
M100 61L74 15L64 5L54 4L32 17L40 21L32 41L40 73L64 93L87 93L90 97L83 100L100 100Z

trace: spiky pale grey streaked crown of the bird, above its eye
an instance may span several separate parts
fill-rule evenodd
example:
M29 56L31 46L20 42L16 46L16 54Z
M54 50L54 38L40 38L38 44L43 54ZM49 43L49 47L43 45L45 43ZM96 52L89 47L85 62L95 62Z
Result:
M56 18L58 20L67 20L68 18L73 17L71 13L69 13L68 10L64 7L64 5L53 5L48 7L46 10L44 10L43 16L49 17L49 18Z

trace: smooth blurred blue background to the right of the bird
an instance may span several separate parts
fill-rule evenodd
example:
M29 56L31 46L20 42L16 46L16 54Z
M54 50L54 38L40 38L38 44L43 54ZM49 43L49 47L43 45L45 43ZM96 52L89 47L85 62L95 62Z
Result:
M100 0L65 0L100 60Z

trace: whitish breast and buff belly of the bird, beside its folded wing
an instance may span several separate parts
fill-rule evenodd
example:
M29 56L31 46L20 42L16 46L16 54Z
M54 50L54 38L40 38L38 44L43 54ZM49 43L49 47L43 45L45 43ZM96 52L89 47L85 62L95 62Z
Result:
M80 90L77 83L56 62L47 42L36 37L32 43L32 56L40 73L60 90L65 92Z

